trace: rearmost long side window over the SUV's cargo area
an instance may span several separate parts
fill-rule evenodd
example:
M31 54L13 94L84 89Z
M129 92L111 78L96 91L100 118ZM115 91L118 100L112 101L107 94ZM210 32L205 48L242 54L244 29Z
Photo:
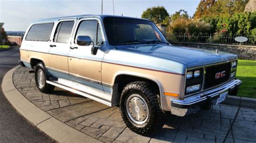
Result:
M25 40L48 41L50 39L52 27L53 23L32 25Z

